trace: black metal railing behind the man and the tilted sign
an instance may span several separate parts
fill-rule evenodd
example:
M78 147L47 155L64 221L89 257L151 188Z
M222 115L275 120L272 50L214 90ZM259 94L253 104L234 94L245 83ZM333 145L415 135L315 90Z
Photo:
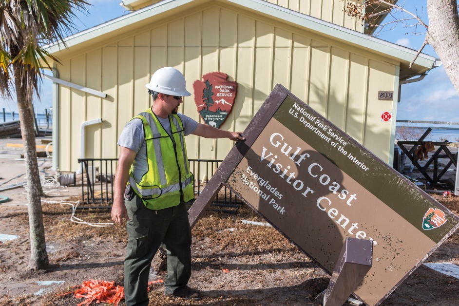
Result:
M83 204L112 204L113 180L117 158L79 158L81 165L81 194ZM217 170L222 160L190 159L194 175L194 194L197 197ZM236 194L223 187L212 202L214 209L231 212L242 204Z

